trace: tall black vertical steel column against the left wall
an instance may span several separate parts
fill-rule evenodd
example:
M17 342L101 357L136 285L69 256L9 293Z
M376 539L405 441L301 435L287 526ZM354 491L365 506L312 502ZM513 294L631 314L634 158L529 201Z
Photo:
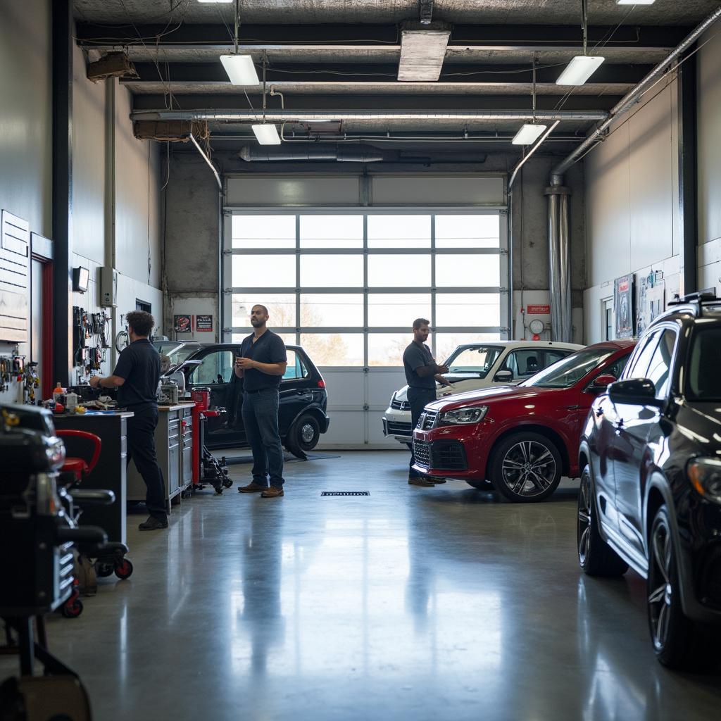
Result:
M53 2L53 381L72 366L73 3ZM50 372L49 370L46 372Z

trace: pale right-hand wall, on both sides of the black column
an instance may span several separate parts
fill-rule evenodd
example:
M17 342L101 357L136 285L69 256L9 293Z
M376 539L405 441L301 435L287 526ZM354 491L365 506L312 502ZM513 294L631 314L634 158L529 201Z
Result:
M721 288L721 35L696 54L698 284ZM601 340L602 304L613 281L663 273L665 300L683 292L678 217L678 103L673 74L614 125L585 159L588 288L585 340Z

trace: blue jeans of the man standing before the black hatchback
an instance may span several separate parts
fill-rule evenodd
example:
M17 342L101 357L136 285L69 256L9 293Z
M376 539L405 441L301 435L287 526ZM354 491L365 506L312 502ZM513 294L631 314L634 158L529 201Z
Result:
M278 433L278 389L243 394L243 425L253 451L253 482L283 487L283 446Z

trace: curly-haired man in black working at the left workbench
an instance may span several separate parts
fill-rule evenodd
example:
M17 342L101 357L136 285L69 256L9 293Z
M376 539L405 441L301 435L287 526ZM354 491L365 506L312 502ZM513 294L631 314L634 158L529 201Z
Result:
M167 528L163 474L155 453L155 427L158 425L158 381L160 354L148 340L155 319L145 311L126 316L131 343L123 349L112 376L90 379L93 388L118 389L118 408L133 412L128 418L128 464L135 461L147 487L145 505L150 514L138 526L141 531Z

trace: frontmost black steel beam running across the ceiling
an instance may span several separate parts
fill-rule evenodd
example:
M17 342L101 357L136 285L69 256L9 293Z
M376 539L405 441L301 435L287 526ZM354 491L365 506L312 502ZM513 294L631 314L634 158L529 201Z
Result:
M621 26L589 27L588 43L603 42L604 47L676 47L688 35L689 27ZM97 25L80 22L76 37L81 45L140 43L160 47L173 45L218 45L232 43L232 34L225 25L180 25L168 29L166 25ZM609 38L609 40L606 40ZM352 45L399 44L397 25L242 25L240 42L244 46L279 43L306 45L324 42ZM580 45L581 32L577 25L455 25L449 45Z

